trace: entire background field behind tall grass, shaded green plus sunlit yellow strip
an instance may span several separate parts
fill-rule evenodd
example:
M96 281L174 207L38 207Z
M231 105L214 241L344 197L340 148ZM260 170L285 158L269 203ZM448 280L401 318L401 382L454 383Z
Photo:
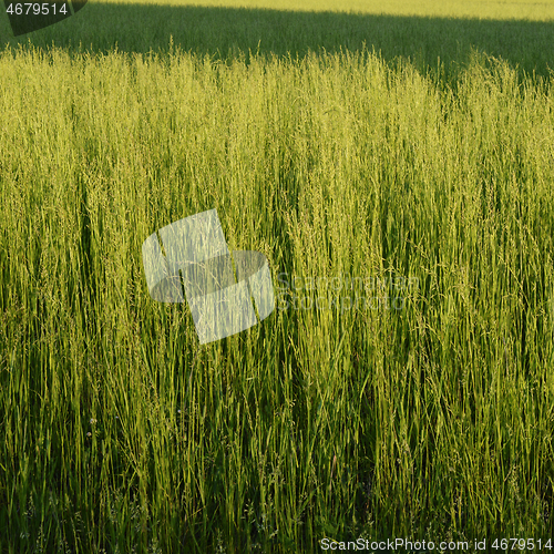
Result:
M455 80L472 50L503 59L523 73L550 74L554 2L286 1L95 2L69 20L13 38L0 18L0 44L72 52L186 52L233 59L237 52L305 57L309 51L362 50Z

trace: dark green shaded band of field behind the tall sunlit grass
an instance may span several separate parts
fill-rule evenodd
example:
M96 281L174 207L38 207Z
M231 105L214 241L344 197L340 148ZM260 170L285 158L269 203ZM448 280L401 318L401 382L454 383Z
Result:
M548 74L554 65L554 21L479 20L299 12L267 9L202 8L89 2L65 21L13 37L8 17L0 16L0 43L106 53L167 51L170 41L183 51L217 58L249 51L302 57L309 50L328 52L368 49L391 61L410 58L419 69L469 60L472 49L502 58L526 72Z

